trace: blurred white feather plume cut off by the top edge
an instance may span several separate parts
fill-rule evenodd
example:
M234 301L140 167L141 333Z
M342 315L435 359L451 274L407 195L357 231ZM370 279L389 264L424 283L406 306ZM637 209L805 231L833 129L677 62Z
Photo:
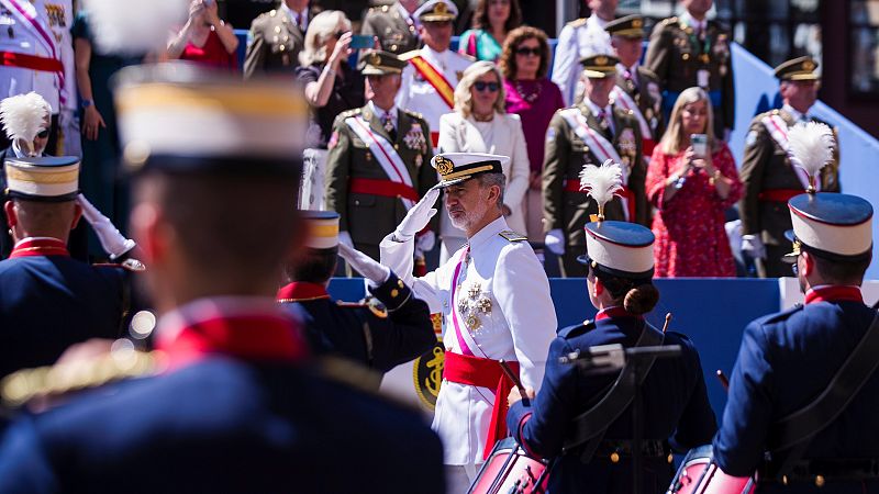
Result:
M143 55L164 49L186 22L189 0L84 0L101 53Z

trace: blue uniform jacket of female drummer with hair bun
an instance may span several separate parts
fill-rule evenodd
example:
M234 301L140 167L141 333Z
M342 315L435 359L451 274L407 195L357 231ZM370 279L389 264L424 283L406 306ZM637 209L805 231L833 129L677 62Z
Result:
M643 327L641 318L613 317L561 329L549 347L546 375L532 406L519 402L507 415L507 425L516 440L538 457L559 456L572 433L574 418L598 403L616 379L615 373L587 377L577 366L559 363L559 357L596 345L632 347ZM716 430L716 423L708 402L699 353L692 343L678 333L667 333L664 345L680 345L683 355L678 359L656 360L644 381L643 437L660 441L670 438L672 446L680 450L708 444ZM631 406L610 425L604 439L632 439ZM549 476L550 492L632 492L631 457L623 456L613 463L608 454L597 452L588 464L583 464L579 449L575 448L557 459ZM642 492L665 492L672 476L672 465L666 458L645 457Z

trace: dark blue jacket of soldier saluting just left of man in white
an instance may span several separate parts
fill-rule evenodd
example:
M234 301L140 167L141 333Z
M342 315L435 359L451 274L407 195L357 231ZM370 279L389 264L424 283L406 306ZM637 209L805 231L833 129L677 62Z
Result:
M341 305L325 291L324 296L281 302L303 319L315 352L345 357L378 372L413 360L436 344L427 304L413 297L412 291L397 276L391 273L385 283L369 291L381 302L386 313L366 304Z

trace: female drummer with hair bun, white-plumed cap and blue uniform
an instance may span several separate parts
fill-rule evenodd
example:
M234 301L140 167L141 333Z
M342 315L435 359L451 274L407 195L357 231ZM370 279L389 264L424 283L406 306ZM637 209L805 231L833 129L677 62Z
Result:
M679 345L682 355L657 359L642 384L641 451L642 493L661 493L675 472L668 462L670 440L686 451L711 441L716 423L708 402L702 366L693 344L678 333L663 333L644 319L659 301L653 285L653 233L635 223L603 221L603 204L619 191L619 165L587 165L582 189L599 204L599 221L586 225L587 255L578 260L588 268L589 300L599 310L593 322L558 332L549 347L546 373L531 406L520 393L510 393L507 425L534 457L558 457L549 474L553 493L631 493L632 407L626 406L599 435L594 452L574 446L575 417L594 406L608 393L617 373L586 374L560 357L597 345ZM652 340L652 343L647 343ZM592 445L594 446L594 445ZM565 450L563 452L563 447Z

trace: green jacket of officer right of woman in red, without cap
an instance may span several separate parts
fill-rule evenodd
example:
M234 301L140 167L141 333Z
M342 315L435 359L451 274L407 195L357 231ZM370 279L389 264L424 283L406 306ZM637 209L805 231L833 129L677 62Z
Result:
M786 202L760 201L759 195L769 189L804 190L787 154L778 143L772 139L766 125L761 122L769 114L780 115L788 126L794 124L793 117L783 110L772 110L761 113L750 122L750 128L745 142L745 157L738 177L742 179L744 192L738 202L738 212L742 217L743 235L760 235L767 246L785 246L790 248L790 240L785 238L785 232L791 229L790 211ZM817 119L812 119L821 122ZM838 192L838 147L834 151L834 162L824 167L822 190Z

